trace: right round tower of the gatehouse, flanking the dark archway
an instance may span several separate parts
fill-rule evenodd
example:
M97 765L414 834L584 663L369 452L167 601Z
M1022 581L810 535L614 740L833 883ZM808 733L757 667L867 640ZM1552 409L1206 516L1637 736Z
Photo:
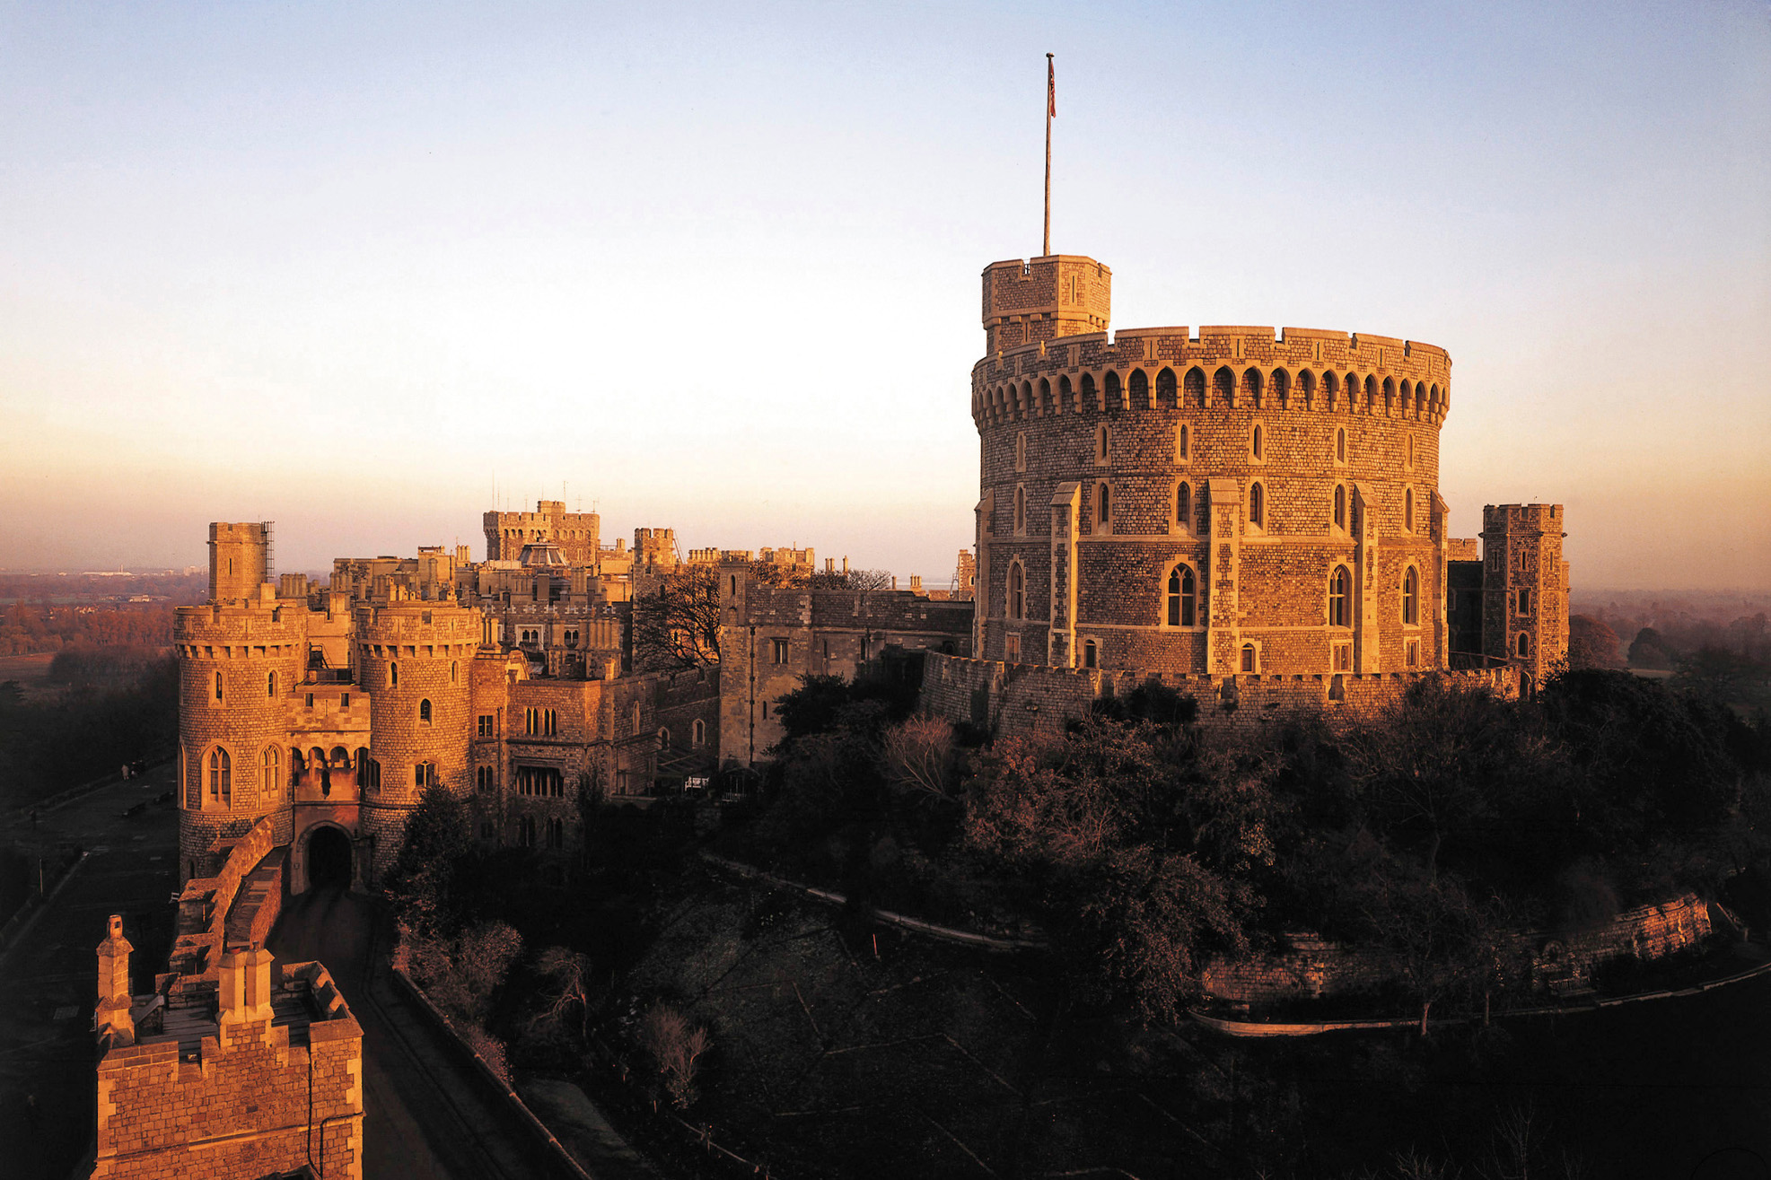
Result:
M358 682L370 700L360 831L370 840L377 881L398 856L425 787L471 790L468 670L480 633L480 615L455 602L395 599L356 611Z

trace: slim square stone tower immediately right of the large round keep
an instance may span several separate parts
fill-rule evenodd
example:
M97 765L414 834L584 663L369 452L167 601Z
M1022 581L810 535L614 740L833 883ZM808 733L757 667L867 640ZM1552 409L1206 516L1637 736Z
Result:
M1564 524L1558 503L1482 508L1482 654L1534 684L1567 664Z

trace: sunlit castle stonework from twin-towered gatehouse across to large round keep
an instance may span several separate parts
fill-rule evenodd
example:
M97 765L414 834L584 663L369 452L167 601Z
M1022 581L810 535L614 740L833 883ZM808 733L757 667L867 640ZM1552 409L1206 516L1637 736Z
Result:
M802 675L889 645L924 652L928 710L992 732L1148 680L1247 726L1373 709L1422 675L1514 695L1564 661L1562 507L1488 507L1481 546L1447 535L1443 349L1109 337L1110 278L1077 255L985 269L976 549L947 595L809 588L809 549L684 562L671 530L604 547L597 514L545 500L485 514L485 562L340 558L328 586L269 581L267 524L211 526L211 601L177 620L184 879L267 820L294 891L322 829L374 882L432 783L473 799L482 840L563 852L581 785L643 804L767 758ZM691 563L717 576L719 664L636 670L634 595Z

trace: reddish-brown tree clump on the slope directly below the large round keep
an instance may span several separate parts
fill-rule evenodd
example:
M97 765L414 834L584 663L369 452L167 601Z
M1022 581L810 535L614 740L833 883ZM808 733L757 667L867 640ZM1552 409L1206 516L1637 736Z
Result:
M967 845L1032 889L1079 999L1171 1021L1210 955L1247 950L1273 771L1252 751L1206 764L1171 726L1096 718L981 758Z

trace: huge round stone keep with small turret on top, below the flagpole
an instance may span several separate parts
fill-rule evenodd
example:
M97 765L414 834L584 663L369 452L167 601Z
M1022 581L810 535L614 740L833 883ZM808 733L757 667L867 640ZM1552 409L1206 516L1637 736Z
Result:
M1109 338L1093 259L983 273L985 659L1179 675L1443 668L1450 358L1286 328Z

